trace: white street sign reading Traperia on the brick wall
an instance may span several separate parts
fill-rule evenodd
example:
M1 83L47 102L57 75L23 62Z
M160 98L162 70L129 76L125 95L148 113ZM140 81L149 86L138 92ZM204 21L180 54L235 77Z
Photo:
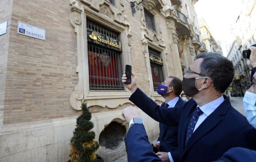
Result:
M33 38L45 40L45 30L32 25L18 22L17 33Z

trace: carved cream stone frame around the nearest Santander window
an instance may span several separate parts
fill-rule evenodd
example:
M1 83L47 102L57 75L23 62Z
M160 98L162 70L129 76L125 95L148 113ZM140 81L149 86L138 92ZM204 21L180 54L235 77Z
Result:
M89 2L87 0L71 0L70 22L75 28L77 36L77 61L76 72L78 73L78 83L70 96L70 105L76 110L81 110L80 100L87 100L87 106L102 106L116 108L119 105L130 101L128 98L131 92L125 90L90 90L88 73L88 44L86 18L98 20L100 24L120 33L122 42L122 68L125 64L131 64L130 51L132 37L130 24L127 22L127 16L122 14L124 4L120 0L116 6L111 5L106 0L100 2ZM119 15L119 16L117 16ZM111 21L109 21L111 19ZM111 102L109 99L111 98Z

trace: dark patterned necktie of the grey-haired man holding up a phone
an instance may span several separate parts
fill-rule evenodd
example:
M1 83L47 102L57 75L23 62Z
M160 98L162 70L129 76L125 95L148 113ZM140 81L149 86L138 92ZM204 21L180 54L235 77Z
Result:
M186 145L188 143L189 138L193 134L193 131L194 131L194 128L196 126L196 122L197 122L199 116L202 115L202 114L203 114L203 112L202 112L202 110L200 110L199 107L197 107L196 110L194 110L193 115L192 115L192 117L190 119L190 122L188 124L188 128L187 128Z

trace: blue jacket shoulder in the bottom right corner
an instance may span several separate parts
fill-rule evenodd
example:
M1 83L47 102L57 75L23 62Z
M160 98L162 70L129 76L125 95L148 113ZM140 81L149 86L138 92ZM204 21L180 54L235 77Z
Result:
M231 148L215 162L256 162L256 151L247 148Z

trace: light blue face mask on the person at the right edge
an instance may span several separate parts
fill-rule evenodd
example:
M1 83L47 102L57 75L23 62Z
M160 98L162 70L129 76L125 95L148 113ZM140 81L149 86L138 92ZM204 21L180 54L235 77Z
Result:
M256 128L256 94L246 91L244 94L244 112L248 122Z

